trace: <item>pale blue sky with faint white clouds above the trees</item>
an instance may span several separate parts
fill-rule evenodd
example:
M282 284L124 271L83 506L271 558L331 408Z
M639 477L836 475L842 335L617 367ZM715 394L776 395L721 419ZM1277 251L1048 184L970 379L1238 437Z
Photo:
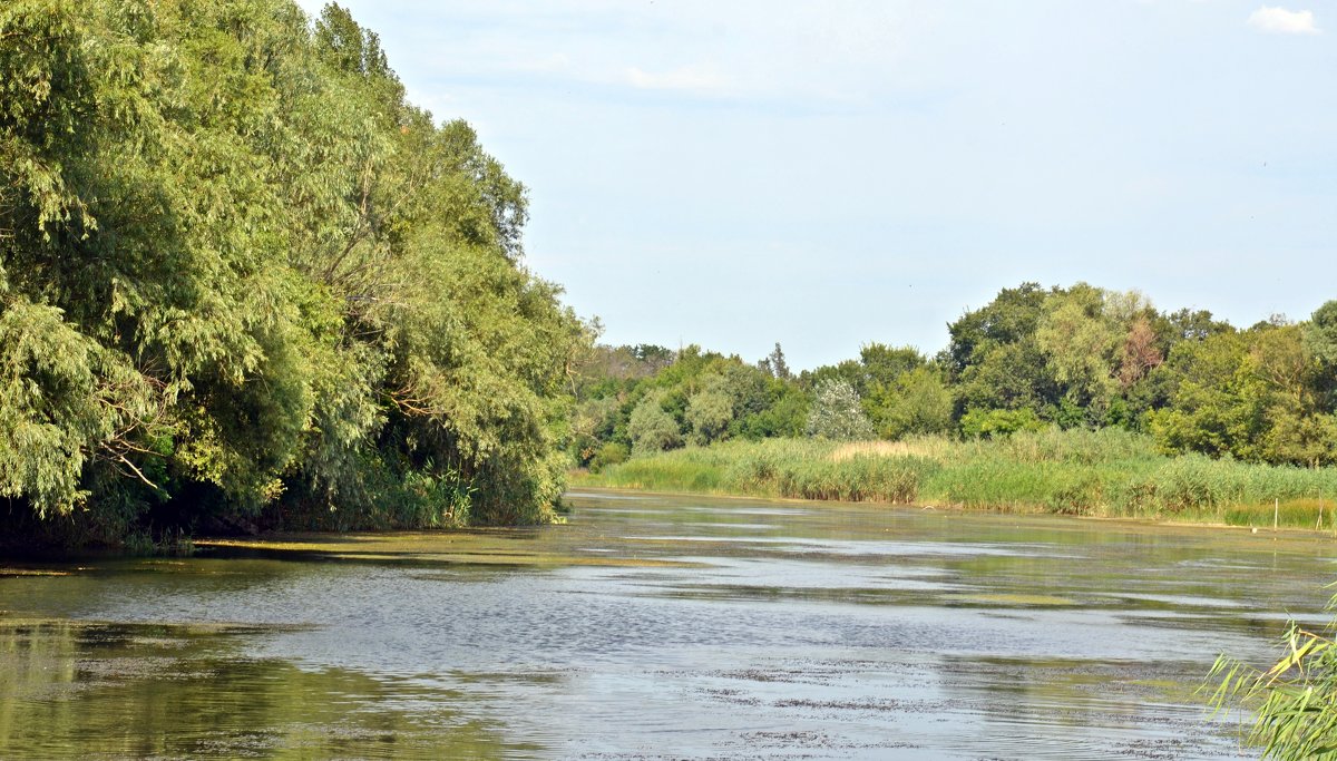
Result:
M344 0L607 344L935 353L1003 288L1337 298L1337 3ZM318 12L320 0L301 0Z

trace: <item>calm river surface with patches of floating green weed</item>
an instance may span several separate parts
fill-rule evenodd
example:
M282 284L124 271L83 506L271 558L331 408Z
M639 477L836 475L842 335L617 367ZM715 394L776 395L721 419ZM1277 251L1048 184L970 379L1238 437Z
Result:
M0 564L0 757L1235 758L1332 540L575 494L567 526Z

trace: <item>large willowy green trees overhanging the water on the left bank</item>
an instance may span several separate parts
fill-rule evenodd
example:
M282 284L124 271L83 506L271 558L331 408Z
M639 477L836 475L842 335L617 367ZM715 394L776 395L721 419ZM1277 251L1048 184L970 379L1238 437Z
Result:
M544 519L590 334L525 218L338 5L0 4L4 531Z

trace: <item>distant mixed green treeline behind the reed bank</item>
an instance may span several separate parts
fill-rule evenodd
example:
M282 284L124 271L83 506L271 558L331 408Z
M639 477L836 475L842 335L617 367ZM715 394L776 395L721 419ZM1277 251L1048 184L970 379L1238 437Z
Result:
M869 344L790 372L689 346L598 346L582 372L572 455L594 471L689 443L813 436L1005 436L1058 427L1144 432L1165 453L1337 461L1337 301L1310 320L1237 329L1087 284L1004 289L949 326L936 356Z

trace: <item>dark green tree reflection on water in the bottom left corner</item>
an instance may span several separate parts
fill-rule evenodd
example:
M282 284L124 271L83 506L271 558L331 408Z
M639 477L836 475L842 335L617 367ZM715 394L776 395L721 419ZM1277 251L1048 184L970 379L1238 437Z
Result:
M4 757L493 758L460 694L241 654L242 626L9 621Z

